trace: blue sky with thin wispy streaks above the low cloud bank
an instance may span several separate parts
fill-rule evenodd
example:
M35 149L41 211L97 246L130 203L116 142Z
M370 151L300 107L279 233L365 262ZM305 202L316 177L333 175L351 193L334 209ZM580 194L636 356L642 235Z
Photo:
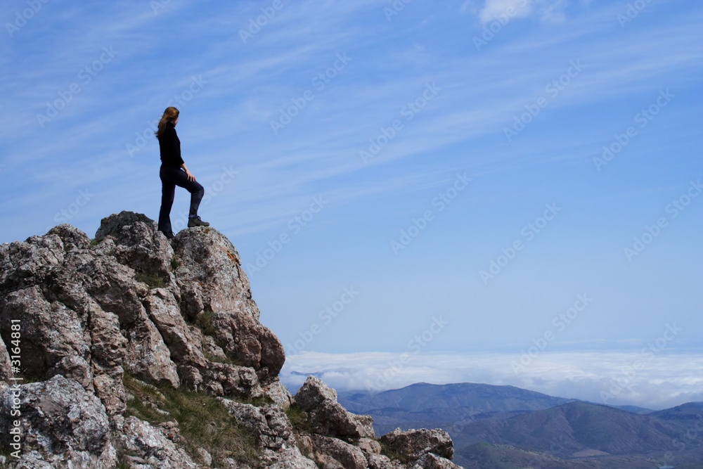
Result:
M288 372L501 354L516 378L530 351L622 354L612 371L666 330L640 375L699 358L697 1L25 0L0 18L2 243L157 218L151 127L176 105L200 215ZM181 189L174 227L187 207Z

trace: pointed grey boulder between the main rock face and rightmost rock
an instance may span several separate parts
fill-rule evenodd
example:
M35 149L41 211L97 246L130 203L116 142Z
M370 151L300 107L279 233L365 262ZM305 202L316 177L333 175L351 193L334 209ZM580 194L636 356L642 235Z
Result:
M313 431L335 437L375 438L373 418L347 412L337 402L337 392L320 378L309 376L295 394L295 404L306 411Z

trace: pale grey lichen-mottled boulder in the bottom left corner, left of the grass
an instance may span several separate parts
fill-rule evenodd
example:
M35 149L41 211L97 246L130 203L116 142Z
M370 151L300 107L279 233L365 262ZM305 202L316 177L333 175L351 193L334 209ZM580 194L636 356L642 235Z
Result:
M25 467L114 467L110 422L105 407L76 380L56 375L41 383L11 387L0 396L0 442L11 447L9 431L20 420L20 461ZM11 416L11 410L20 416ZM35 452L32 452L35 451ZM37 455L36 452L39 454ZM20 467L20 466L18 466Z

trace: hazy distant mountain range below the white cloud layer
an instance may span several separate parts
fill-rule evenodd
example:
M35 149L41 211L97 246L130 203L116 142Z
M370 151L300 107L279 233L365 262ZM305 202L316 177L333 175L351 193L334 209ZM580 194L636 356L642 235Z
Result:
M441 428L470 468L703 468L703 403L618 409L512 386L419 383L340 392L379 432Z

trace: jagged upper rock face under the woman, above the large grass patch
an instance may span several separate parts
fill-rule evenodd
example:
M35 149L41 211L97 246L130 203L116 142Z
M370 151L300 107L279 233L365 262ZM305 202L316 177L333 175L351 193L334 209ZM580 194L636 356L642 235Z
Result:
M110 414L124 411L124 371L150 383L183 381L193 390L249 397L278 382L283 346L259 323L225 236L181 231L174 251L155 221L122 212L103 219L96 242L62 224L0 246L0 334L7 342L11 320L21 321L22 344L33 352L22 360L24 373L73 378ZM193 324L207 312L210 335ZM205 336L217 361L206 358ZM0 373L8 372L0 349ZM276 385L271 390L278 401L285 397Z

